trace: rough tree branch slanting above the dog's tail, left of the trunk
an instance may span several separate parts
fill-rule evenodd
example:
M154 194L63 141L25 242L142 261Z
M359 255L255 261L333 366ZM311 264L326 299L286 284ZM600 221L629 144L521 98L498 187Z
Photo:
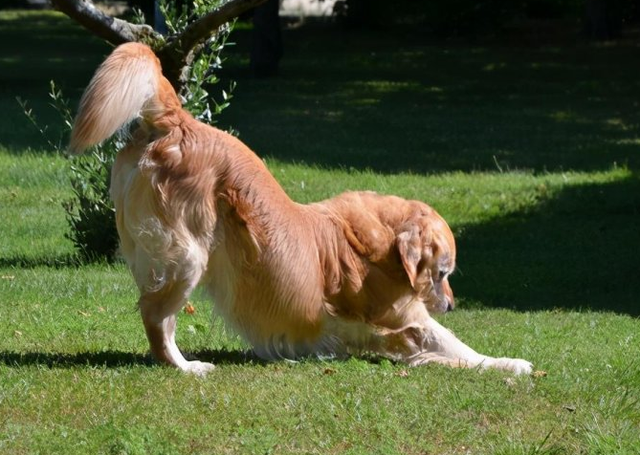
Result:
M51 3L94 35L114 45L160 37L148 25L131 24L103 13L90 0L51 0Z

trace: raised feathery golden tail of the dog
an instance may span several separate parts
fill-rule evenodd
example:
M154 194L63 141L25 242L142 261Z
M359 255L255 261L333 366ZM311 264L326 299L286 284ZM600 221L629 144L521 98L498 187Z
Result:
M167 109L179 107L153 51L140 43L122 44L100 65L82 95L69 151L81 153L137 117L153 123Z

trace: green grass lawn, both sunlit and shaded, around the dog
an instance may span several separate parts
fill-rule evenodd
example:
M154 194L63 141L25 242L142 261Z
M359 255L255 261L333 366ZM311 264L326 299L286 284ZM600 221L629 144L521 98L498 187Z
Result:
M233 38L220 125L297 201L371 189L434 206L459 247L458 310L439 320L538 373L262 363L200 291L178 345L218 368L155 365L126 267L74 265L69 160L15 101L57 138L49 80L75 105L109 48L60 15L0 11L0 453L640 453L637 43L303 27L281 75L255 80L249 32Z

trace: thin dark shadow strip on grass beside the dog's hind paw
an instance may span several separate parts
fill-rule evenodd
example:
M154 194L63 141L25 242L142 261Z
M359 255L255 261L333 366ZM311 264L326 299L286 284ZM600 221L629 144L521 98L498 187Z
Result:
M185 353L187 359L198 359L216 365L262 364L265 361L251 351L202 350ZM0 364L16 366L44 366L47 368L74 368L78 366L121 368L130 366L158 365L150 355L123 351L79 352L64 354L56 352L0 351Z

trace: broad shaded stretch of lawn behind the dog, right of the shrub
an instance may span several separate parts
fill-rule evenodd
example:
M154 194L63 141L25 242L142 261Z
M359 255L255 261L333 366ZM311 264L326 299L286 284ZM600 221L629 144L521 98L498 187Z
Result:
M640 168L640 59L611 46L461 45L409 34L286 30L276 80L238 59L220 124L259 155L381 173Z

